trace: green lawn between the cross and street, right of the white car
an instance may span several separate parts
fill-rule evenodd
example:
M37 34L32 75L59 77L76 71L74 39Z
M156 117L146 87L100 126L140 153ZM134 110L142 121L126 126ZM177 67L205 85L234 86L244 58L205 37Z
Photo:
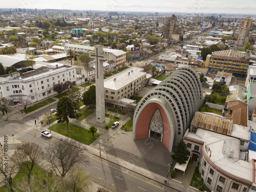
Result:
M95 139L97 139L97 134L94 134L93 136L89 130L72 123L69 123L69 130L67 129L66 122L54 124L51 126L51 130L87 145L90 145Z

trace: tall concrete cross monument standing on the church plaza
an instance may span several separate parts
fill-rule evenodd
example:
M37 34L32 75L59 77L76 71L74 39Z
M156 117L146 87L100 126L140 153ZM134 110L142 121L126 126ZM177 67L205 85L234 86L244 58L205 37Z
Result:
M96 122L103 123L105 121L103 60L108 60L109 55L103 54L102 46L96 45L95 52L90 52L89 56L95 58Z

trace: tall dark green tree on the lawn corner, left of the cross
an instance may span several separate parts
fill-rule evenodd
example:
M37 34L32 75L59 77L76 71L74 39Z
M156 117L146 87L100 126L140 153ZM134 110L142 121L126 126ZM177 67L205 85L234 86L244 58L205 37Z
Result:
M57 103L56 117L58 123L67 122L67 129L69 129L69 118L75 117L75 109L72 100L66 96L59 99Z

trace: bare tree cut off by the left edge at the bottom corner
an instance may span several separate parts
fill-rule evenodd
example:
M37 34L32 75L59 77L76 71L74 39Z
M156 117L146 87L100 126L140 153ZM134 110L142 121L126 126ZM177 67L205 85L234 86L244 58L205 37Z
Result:
M8 156L5 155L5 150L8 148L6 148L6 146L7 145L0 146L0 174L5 177L4 184L9 185L10 192L14 192L12 181L18 172L18 166L13 163L13 161L5 161L8 159Z

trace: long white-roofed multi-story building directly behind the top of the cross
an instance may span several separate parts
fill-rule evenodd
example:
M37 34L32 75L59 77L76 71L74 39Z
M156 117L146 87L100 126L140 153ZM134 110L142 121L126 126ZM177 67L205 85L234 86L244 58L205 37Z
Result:
M66 52L72 49L73 51L75 51L76 54L89 53L94 50L94 47L92 46L82 46L75 44L66 44L64 47ZM103 48L103 53L109 54L109 60L114 60L116 63L116 67L120 68L121 66L125 65L126 52L121 50Z

